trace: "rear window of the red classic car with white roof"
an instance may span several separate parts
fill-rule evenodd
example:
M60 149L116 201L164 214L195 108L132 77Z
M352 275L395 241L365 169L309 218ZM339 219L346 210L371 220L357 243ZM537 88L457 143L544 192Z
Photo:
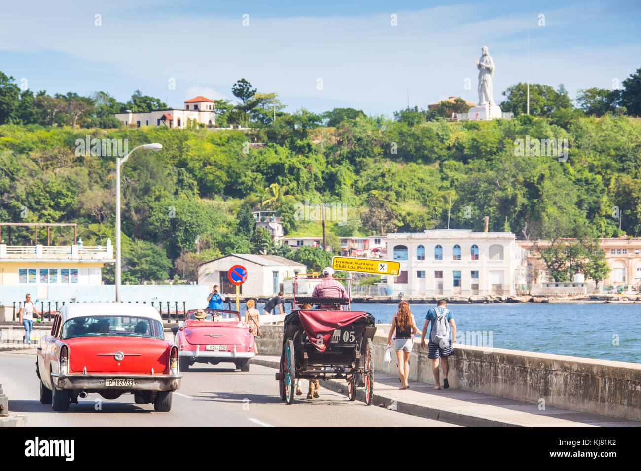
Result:
M165 338L158 320L133 316L74 317L63 324L60 338L115 336Z

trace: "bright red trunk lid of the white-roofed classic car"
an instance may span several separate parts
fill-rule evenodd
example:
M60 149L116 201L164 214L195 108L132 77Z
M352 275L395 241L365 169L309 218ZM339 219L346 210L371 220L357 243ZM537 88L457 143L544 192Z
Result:
M72 372L81 373L85 367L88 374L151 374L151 368L162 374L167 370L167 342L158 338L83 337L65 342ZM117 352L124 354L120 361L114 358Z

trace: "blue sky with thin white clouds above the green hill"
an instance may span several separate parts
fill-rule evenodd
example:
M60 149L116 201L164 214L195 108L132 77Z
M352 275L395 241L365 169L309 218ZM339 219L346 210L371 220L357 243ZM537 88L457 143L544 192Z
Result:
M140 89L175 108L196 95L235 99L239 78L277 92L288 111L351 106L392 115L408 94L421 108L449 95L478 101L474 58L484 45L499 102L526 79L528 30L531 81L563 83L570 97L611 88L641 67L634 1L2 1L5 74L50 94L104 90L127 101Z

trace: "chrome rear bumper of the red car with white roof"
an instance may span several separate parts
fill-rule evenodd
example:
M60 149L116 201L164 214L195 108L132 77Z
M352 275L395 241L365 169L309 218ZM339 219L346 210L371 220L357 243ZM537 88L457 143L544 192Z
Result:
M125 390L125 391L174 391L180 388L180 380L183 377L177 375L156 375L142 376L135 374L60 374L52 373L51 381L56 389L79 389L79 390ZM133 386L105 386L104 380L109 379L133 379Z

